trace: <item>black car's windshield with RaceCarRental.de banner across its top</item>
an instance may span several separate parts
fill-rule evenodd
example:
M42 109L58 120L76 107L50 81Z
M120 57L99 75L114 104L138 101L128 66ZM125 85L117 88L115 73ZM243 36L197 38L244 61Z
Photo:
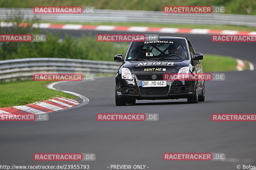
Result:
M133 42L127 60L187 60L184 40Z

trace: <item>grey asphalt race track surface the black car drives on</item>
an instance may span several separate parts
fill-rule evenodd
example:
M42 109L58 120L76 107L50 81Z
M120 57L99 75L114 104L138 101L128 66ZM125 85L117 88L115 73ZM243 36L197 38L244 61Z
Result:
M75 36L89 33L49 31ZM196 52L230 55L256 64L254 43L213 43L210 35L175 35L190 38ZM255 165L255 122L212 122L211 115L255 114L256 72L225 74L225 81L206 82L206 99L198 104L187 104L184 99L140 100L134 105L117 107L114 76L60 83L54 87L84 95L90 102L82 107L51 113L46 122L0 122L0 163L89 164L92 170L110 169L107 167L111 164L146 165L150 170L234 170L237 165ZM158 113L159 120L101 122L96 120L98 113ZM227 159L164 161L162 155L166 152L225 153ZM34 153L95 153L96 160L79 163L34 161Z

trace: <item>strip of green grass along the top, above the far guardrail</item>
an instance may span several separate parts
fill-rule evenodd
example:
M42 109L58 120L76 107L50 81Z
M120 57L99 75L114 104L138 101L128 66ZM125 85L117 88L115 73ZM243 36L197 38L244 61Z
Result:
M231 14L256 15L255 0L1 0L0 7L33 8L34 6L95 6L96 9L162 11L163 6L225 6Z

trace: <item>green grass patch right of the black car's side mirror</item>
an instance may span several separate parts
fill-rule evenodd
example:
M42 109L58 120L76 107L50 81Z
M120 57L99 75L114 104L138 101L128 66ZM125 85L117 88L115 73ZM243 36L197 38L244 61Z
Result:
M233 57L209 54L205 54L201 62L205 72L234 71L237 65Z

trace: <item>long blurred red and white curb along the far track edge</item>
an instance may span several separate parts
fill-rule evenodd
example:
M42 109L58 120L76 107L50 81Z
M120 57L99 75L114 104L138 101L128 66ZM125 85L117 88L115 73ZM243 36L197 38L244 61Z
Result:
M0 22L0 27L9 27L13 23ZM19 26L26 26L21 23ZM108 25L82 25L82 24L33 24L33 27L42 29L64 29L64 30L96 30L96 31L128 31L128 32L152 32L152 33L188 33L188 34L248 34L255 35L256 31L236 31L236 30L214 30L214 29L190 29L190 28L170 28L170 27L147 27L147 26L108 26Z

